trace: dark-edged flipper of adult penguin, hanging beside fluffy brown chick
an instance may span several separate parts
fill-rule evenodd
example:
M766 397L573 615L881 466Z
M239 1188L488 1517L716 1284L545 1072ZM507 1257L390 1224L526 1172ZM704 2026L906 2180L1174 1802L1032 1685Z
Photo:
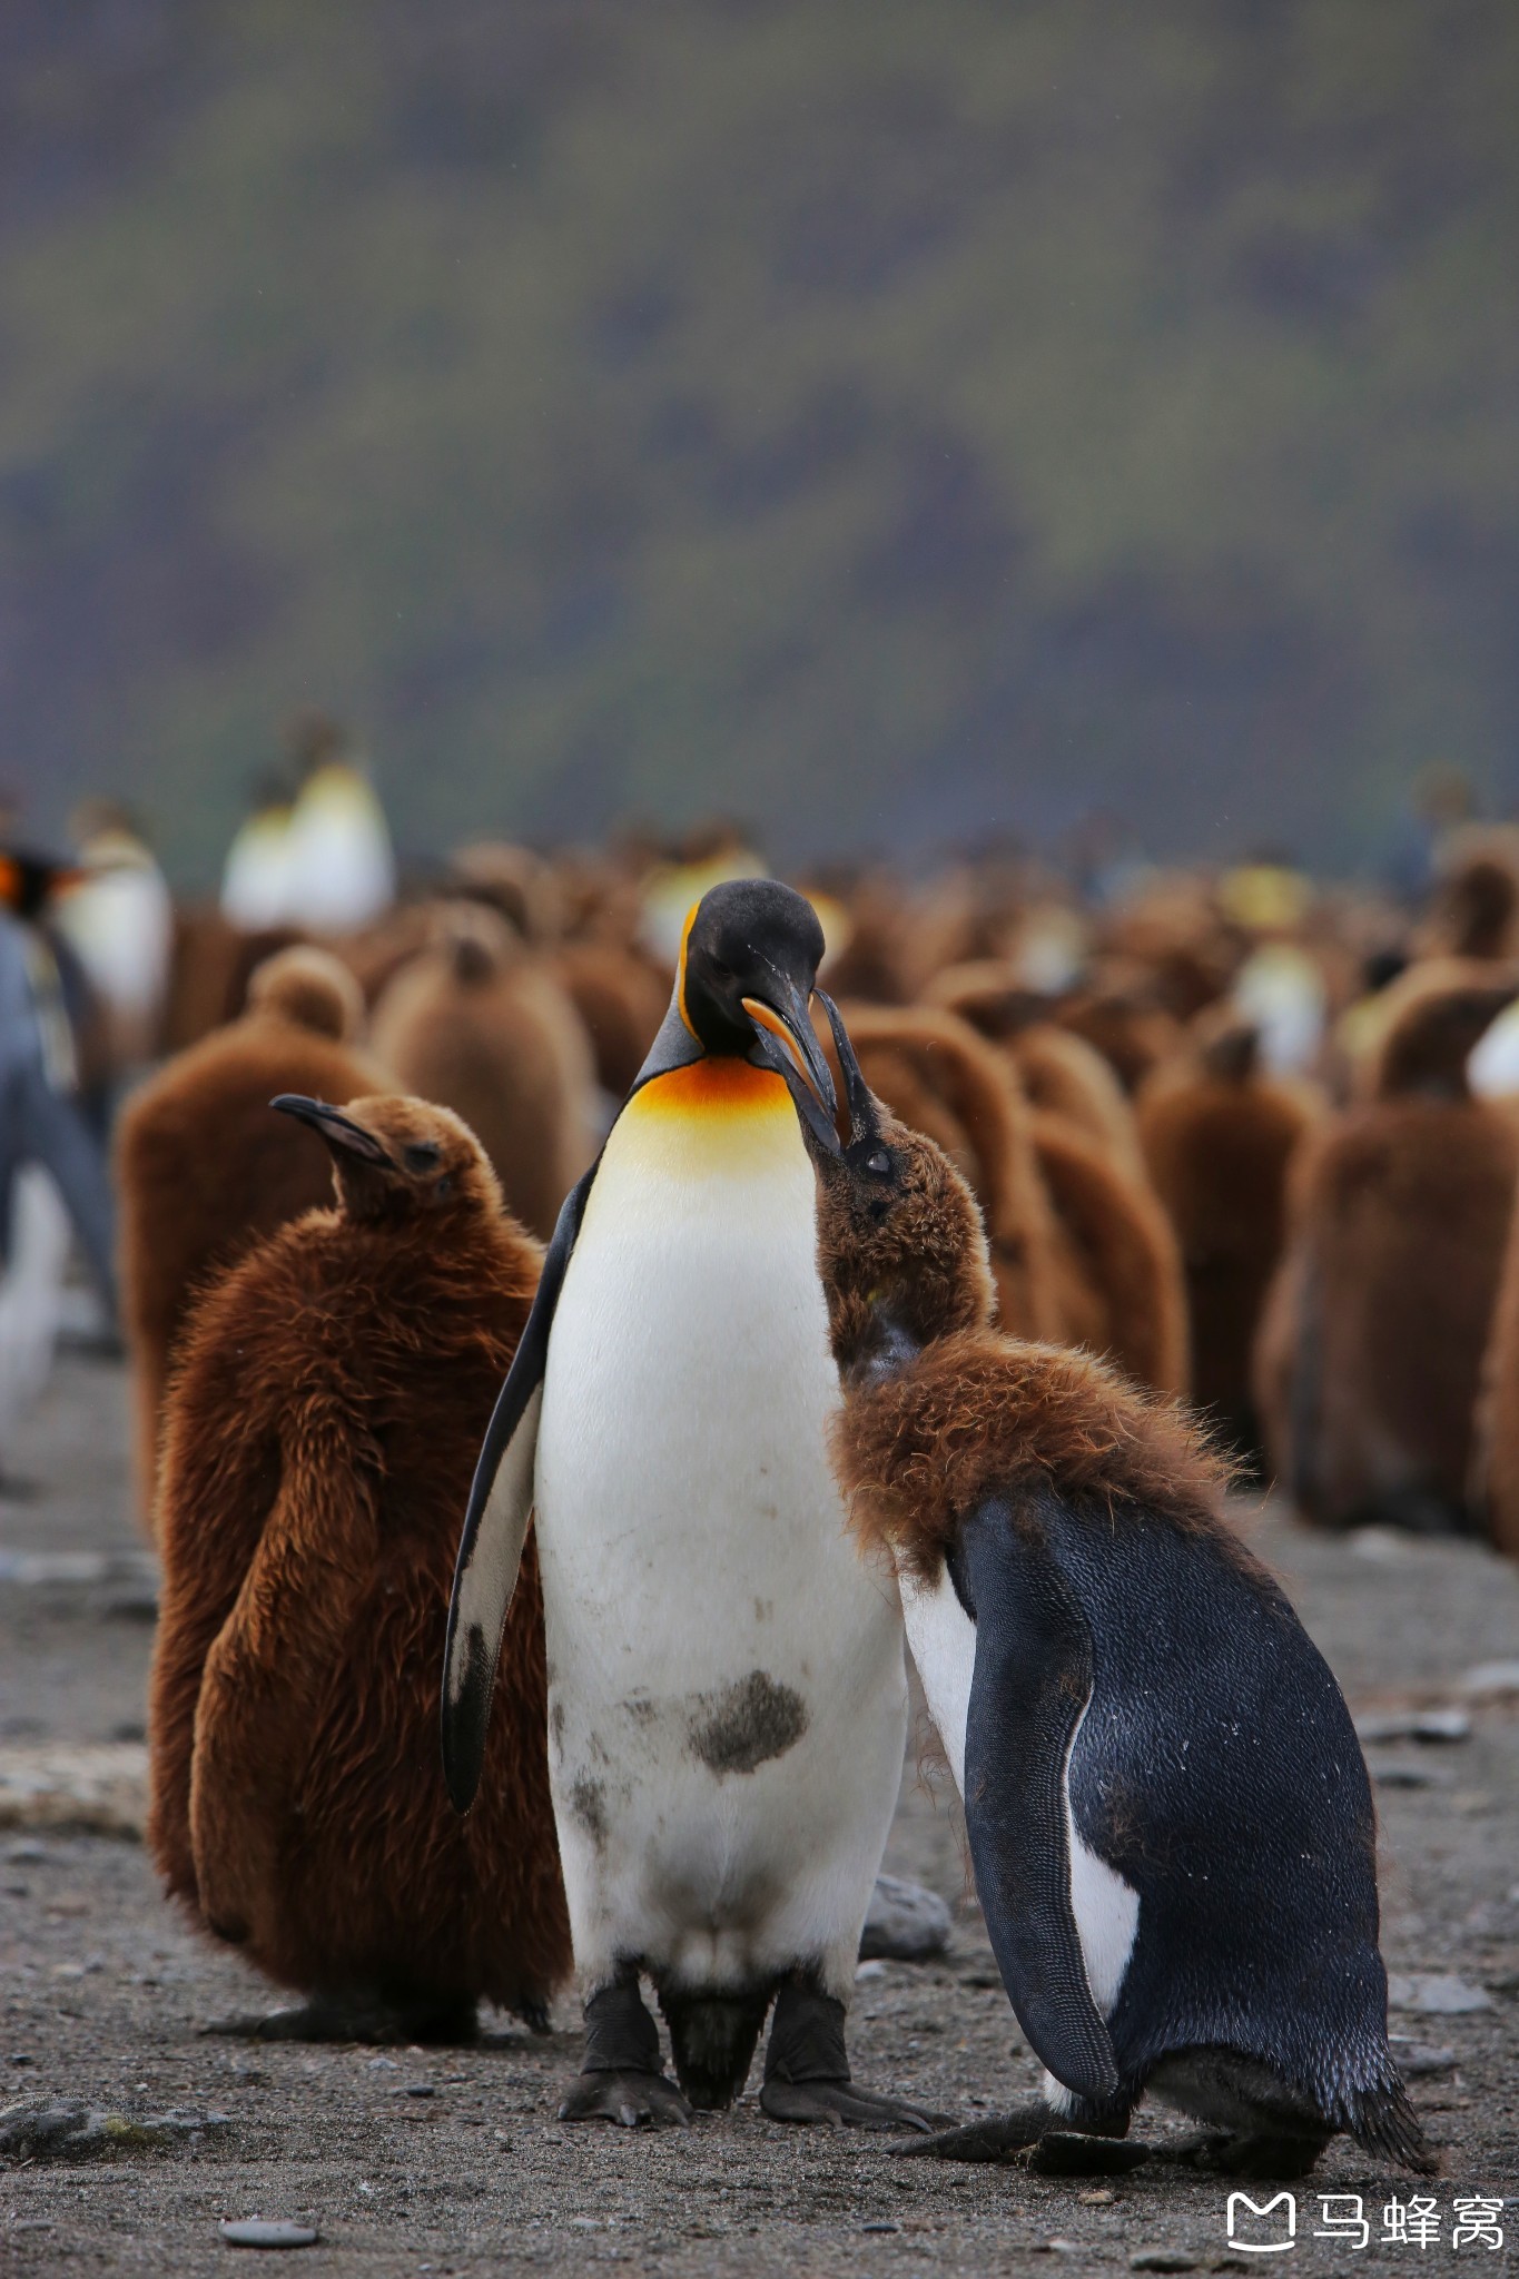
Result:
M444 1780L455 1812L469 1812L481 1784L501 1629L517 1588L522 1545L533 1516L533 1463L549 1365L549 1331L594 1176L597 1165L592 1162L590 1171L565 1196L544 1256L537 1297L496 1397L469 1488L444 1652Z

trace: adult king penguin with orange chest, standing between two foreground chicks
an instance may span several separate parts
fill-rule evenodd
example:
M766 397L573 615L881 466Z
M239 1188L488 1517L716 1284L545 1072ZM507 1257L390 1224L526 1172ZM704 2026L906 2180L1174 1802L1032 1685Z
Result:
M549 1775L585 2001L563 2119L690 2119L745 2085L774 1999L774 2119L925 2126L849 2081L845 2006L906 1739L895 1586L854 1557L824 1433L838 1372L783 1051L822 928L713 887L674 996L558 1219L460 1543L444 1769L467 1810L537 1513ZM761 1044L763 1039L763 1044ZM681 2090L640 1994L654 1987Z

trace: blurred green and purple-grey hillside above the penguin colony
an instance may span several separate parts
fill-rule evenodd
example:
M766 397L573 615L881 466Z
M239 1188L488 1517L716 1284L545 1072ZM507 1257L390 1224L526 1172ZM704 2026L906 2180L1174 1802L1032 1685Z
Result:
M0 775L403 846L1519 791L1514 0L7 0Z

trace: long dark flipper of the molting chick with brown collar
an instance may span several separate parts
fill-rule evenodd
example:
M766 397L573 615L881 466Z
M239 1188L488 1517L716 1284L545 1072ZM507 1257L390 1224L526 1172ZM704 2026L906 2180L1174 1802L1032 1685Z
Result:
M1034 2053L1077 2097L1107 2104L1118 2065L1086 1983L1066 1823L1066 1759L1093 1684L1091 1634L1041 1536L1025 1534L997 1500L961 1529L950 1573L975 1618L966 1830L986 1933Z

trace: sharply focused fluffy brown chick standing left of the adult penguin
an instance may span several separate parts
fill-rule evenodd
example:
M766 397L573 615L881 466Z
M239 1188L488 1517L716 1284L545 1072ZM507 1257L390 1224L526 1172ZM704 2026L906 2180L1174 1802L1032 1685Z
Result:
M228 2031L467 2037L478 1996L537 2019L569 1971L533 1557L467 1821L437 1748L458 1513L542 1253L449 1110L280 1105L332 1151L337 1206L244 1258L187 1338L148 1841L216 1937L312 1996Z

